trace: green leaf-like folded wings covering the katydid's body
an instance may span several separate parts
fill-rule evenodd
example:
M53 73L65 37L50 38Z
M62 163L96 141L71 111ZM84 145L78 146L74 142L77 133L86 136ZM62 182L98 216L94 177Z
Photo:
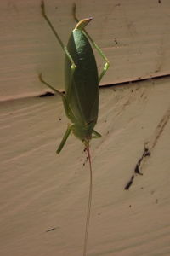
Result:
M74 30L67 49L76 64L71 78L71 62L65 58L65 91L70 90L69 102L77 120L97 121L99 104L99 77L94 52L81 30Z

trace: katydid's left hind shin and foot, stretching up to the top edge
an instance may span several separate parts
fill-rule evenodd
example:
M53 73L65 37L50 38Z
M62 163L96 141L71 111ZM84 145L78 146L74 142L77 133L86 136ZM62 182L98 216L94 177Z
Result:
M76 68L76 64L75 62L73 61L69 51L67 50L67 48L65 47L65 45L63 44L63 42L61 41L61 39L59 38L59 35L58 33L56 32L56 30L54 29L54 26L52 25L51 21L48 19L48 16L46 15L46 12L45 12L45 4L44 2L42 1L41 3L41 9L42 9L42 16L43 18L48 22L48 26L51 28L51 30L54 32L54 35L55 37L57 38L60 46L62 47L62 49L65 51L65 55L67 55L67 57L69 58L69 60L71 61L71 70L73 70L74 72L74 69Z

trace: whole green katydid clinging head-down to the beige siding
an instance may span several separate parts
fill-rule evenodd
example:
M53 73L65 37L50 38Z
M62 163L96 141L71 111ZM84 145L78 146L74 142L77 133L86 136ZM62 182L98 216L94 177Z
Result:
M65 135L59 144L57 154L59 154L64 147L65 142L71 132L73 132L73 134L82 141L88 154L90 188L83 248L83 255L85 256L88 245L88 227L93 185L89 142L92 138L101 137L99 132L94 130L94 126L97 123L99 112L99 82L109 67L109 61L99 46L95 44L93 39L88 35L88 32L84 30L85 26L88 25L92 18L87 18L80 21L77 20L76 5L73 6L73 15L77 21L77 26L71 32L67 46L63 44L58 33L55 31L54 26L48 19L43 1L41 3L41 9L43 18L48 22L48 26L54 32L54 35L57 38L61 48L65 52L65 94L59 90L56 90L52 85L44 81L42 79L42 74L39 75L39 78L43 84L46 84L50 89L54 90L59 96L61 96L65 108L65 114L68 119L71 120L71 125L68 125ZM98 74L94 52L90 43L95 49L97 49L99 55L101 55L105 61L105 67L100 74Z

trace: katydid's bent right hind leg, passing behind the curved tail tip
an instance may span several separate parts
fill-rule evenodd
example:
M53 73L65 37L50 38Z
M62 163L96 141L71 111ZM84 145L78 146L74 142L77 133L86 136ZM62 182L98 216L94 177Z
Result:
M78 22L79 20L77 19L77 6L76 6L76 3L73 4L73 8L72 8L72 15L74 17L74 19ZM88 34L88 32L83 29L83 32L85 33L85 35L87 36L88 40L91 42L91 44L94 46L95 49L97 49L99 55L103 58L103 60L105 61L105 66L104 66L104 69L103 71L100 73L99 75L99 82L100 80L103 78L103 76L105 75L107 69L109 68L110 66L110 63L109 61L107 60L105 54L103 53L102 49L99 48L98 44L96 44L94 42L94 40L90 37L90 35Z

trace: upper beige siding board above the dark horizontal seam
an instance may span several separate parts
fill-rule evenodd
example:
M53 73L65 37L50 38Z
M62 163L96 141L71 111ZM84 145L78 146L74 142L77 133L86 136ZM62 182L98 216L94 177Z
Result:
M77 16L93 16L88 32L104 50L111 67L101 84L115 84L170 73L170 2L148 0L77 0ZM47 13L67 42L75 22L72 2L46 1ZM63 90L64 54L42 19L40 1L0 2L0 100L47 91L37 79L42 72ZM99 69L103 63L99 61Z

